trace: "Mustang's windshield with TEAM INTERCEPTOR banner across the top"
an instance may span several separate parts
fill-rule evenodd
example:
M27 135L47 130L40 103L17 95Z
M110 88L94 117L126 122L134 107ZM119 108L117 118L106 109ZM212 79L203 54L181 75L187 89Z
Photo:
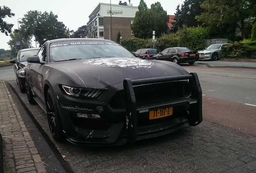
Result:
M105 58L134 57L128 50L115 42L107 41L68 41L50 45L50 61Z

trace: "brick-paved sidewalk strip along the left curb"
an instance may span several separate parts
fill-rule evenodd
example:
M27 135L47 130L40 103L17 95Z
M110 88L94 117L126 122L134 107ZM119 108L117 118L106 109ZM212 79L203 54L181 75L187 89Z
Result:
M0 98L5 173L47 172L4 81L0 81Z

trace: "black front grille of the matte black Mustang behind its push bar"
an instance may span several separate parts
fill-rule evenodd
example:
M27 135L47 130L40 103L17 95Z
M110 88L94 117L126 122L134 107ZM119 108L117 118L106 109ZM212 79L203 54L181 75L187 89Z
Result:
M187 80L146 84L133 87L137 106L190 97ZM113 109L125 109L124 91L119 91L110 102Z

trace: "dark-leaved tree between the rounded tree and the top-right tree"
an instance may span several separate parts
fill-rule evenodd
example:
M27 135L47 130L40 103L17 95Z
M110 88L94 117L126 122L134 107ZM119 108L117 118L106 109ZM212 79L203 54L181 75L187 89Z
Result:
M175 22L171 22L173 25L171 32L177 32L178 29L183 26L192 27L201 25L202 22L198 22L195 17L204 12L204 9L200 7L202 2L204 2L204 0L185 0L181 9L180 5L178 5L173 18Z

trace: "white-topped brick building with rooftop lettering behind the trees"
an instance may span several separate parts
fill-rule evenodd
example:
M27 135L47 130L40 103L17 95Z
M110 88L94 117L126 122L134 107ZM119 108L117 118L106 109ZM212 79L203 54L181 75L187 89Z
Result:
M111 10L110 10L111 9ZM112 14L111 14L112 11ZM87 22L87 38L102 38L113 41L118 40L118 32L124 38L133 38L130 28L138 7L127 5L126 2L119 4L99 3L89 15ZM111 27L112 26L112 27ZM112 28L112 36L111 36Z

